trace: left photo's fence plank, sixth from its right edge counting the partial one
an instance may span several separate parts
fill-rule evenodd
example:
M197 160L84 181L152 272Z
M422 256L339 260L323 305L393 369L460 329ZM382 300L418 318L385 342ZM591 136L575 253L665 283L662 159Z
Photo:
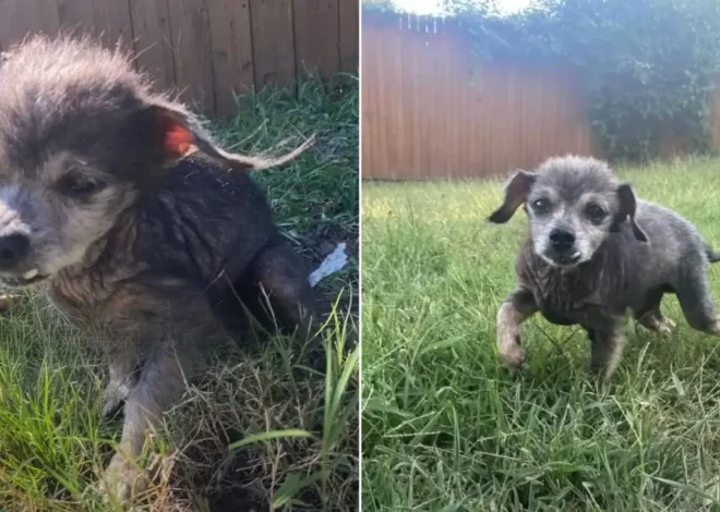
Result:
M175 58L170 14L166 0L130 0L137 66L145 70L158 88L175 87Z

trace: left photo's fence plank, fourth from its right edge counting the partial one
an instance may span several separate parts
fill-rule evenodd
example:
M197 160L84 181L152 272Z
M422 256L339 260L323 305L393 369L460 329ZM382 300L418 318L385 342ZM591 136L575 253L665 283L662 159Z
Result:
M218 115L237 110L235 95L254 86L250 4L248 0L209 0L208 19Z

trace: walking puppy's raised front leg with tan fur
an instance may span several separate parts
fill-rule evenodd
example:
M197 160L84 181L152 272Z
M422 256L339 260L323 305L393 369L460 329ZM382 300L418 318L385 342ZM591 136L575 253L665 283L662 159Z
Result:
M497 352L505 366L519 368L525 363L525 349L520 343L520 324L538 310L532 292L515 290L497 312Z

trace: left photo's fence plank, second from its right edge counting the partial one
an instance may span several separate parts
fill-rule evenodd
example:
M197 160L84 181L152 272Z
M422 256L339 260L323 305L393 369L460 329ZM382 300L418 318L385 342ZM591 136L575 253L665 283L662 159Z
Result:
M298 75L329 80L340 69L338 0L295 0L295 62Z

